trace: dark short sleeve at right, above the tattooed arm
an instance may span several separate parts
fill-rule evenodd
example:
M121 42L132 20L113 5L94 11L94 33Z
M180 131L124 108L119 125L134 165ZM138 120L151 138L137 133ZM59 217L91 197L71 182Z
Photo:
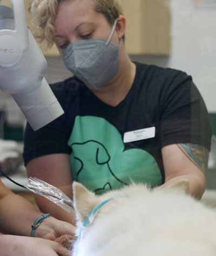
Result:
M174 143L195 143L210 149L210 118L191 76L180 72L164 88L160 109L161 147Z

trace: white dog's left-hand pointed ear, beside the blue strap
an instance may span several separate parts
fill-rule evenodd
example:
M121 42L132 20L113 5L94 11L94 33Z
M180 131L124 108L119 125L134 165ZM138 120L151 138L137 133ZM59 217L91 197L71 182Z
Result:
M100 203L100 199L81 183L74 181L72 186L73 205L75 207L76 216L77 219L83 223L87 215Z

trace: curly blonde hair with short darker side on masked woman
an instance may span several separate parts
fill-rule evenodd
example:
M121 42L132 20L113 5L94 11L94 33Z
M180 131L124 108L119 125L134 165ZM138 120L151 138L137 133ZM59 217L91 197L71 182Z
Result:
M58 4L71 0L30 0L29 12L33 34L38 42L46 41L47 47L53 44L53 37L56 35L54 21L56 19ZM118 0L93 0L95 11L104 15L107 21L113 25L119 15L123 15L122 6Z

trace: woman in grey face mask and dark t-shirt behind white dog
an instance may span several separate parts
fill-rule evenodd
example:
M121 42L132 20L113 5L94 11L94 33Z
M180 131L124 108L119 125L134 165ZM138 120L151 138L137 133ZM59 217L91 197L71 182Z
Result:
M192 78L130 60L117 1L32 0L30 12L37 37L56 43L75 76L52 85L65 114L37 132L26 128L28 175L70 197L73 180L102 194L131 180L153 187L187 178L201 198L212 130Z

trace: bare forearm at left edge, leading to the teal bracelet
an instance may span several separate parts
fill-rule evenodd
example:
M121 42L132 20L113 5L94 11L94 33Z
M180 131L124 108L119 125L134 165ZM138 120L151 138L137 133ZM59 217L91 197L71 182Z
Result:
M0 231L30 236L31 225L42 213L21 196L10 193L0 200Z

